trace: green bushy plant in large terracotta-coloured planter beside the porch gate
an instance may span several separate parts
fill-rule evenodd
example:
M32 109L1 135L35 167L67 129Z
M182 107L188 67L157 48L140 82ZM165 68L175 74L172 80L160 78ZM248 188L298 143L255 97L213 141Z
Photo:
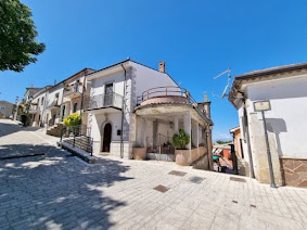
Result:
M183 129L179 129L179 133L172 136L172 145L175 150L176 164L190 165L190 150L187 150L187 145L190 143L190 136L184 132Z

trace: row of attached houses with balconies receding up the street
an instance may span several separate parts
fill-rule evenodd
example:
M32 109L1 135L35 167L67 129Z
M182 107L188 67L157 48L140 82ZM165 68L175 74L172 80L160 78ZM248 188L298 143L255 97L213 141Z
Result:
M84 97L89 93L85 76L91 72L93 69L84 68L54 86L27 88L25 103L30 106L25 114L28 125L48 127L48 135L60 137L66 116L73 113L82 115ZM33 92L33 89L36 91ZM87 116L82 117L82 122L87 124Z

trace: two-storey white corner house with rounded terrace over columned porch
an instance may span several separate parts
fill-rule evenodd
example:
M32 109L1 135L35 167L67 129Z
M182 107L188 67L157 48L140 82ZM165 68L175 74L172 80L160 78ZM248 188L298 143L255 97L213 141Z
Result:
M154 158L171 151L172 135L179 128L192 139L189 156L181 158L184 164L207 153L213 125L209 102L192 101L190 93L165 73L164 62L156 71L126 60L86 78L90 97L84 108L95 154L131 158L133 148L141 146Z

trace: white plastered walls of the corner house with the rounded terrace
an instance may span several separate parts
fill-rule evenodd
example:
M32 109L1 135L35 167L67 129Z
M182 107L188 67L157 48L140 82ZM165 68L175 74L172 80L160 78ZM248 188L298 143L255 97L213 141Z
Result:
M161 86L177 86L174 80L166 74L151 69L149 67L142 66L140 64L129 62L129 64L126 64L127 69L127 85L126 85L126 101L125 101L125 116L124 116L124 141L126 142L126 146L129 149L128 152L131 150L131 146L135 144L135 136L136 136L136 122L133 122L133 110L136 106L137 97L141 95L141 93L150 88L153 87L161 87ZM113 69L112 74L103 75L103 72L101 73L101 77L93 78L91 80L91 89L90 89L90 95L99 95L103 94L106 84L113 84L113 91L118 93L119 95L123 95L124 93L124 69L117 68ZM116 72L115 72L116 71ZM115 73L114 73L115 72ZM110 72L111 73L111 72ZM104 114L107 113L104 110L101 110L100 112L94 112L100 114L92 115L90 119L92 119L91 124L89 126L92 127L91 136L94 139L94 152L100 152L101 150L101 131L103 127L101 127L101 124L105 120ZM113 124L113 140L111 144L111 152L114 152L112 154L116 155L116 151L118 152L118 144L120 144L120 136L116 136L116 130L120 129L121 125L121 115L118 112L118 115L116 113L110 113L108 119L112 120ZM152 125L151 122L149 122L149 126ZM114 128L117 126L118 128ZM167 135L167 128L163 125L161 126L161 132L165 132ZM152 137L152 127L148 128L148 136ZM152 140L152 139L151 139ZM129 155L127 152L127 156ZM117 154L118 155L118 154Z

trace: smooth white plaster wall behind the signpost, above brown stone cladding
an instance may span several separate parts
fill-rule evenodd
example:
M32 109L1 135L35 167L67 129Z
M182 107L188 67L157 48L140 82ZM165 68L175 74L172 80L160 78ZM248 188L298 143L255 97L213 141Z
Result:
M307 76L253 84L245 90L251 100L248 114L255 113L253 102L270 100L266 118L279 155L307 157Z

